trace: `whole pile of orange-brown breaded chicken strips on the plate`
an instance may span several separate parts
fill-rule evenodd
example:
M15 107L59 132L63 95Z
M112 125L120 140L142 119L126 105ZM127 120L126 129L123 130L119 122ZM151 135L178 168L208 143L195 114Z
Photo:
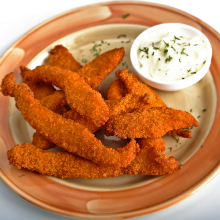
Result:
M14 97L23 118L36 130L32 143L7 152L9 163L44 175L85 179L121 175L167 175L179 162L164 153L164 135L192 138L198 127L188 112L169 108L128 69L117 70L107 100L98 86L120 64L124 48L109 50L82 66L62 45L50 51L49 65L21 66L22 84L10 73L1 92ZM127 139L106 147L95 133ZM48 149L59 146L62 151Z

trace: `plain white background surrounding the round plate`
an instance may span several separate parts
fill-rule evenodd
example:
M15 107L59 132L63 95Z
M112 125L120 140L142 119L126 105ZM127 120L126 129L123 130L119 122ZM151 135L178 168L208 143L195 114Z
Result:
M110 0L109 0L110 1ZM103 0L7 0L0 1L0 57L22 35L41 22L65 11ZM148 1L166 4L186 11L203 20L220 33L219 0L155 0ZM161 15L162 16L162 15ZM220 39L220 36L219 36ZM219 48L220 49L220 48ZM220 62L220 59L219 59ZM1 146L0 146L1 147ZM193 169L193 168L192 168ZM64 220L61 217L41 210L15 195L0 181L1 220ZM205 220L220 219L220 175L207 186L188 199L168 209L137 220Z

